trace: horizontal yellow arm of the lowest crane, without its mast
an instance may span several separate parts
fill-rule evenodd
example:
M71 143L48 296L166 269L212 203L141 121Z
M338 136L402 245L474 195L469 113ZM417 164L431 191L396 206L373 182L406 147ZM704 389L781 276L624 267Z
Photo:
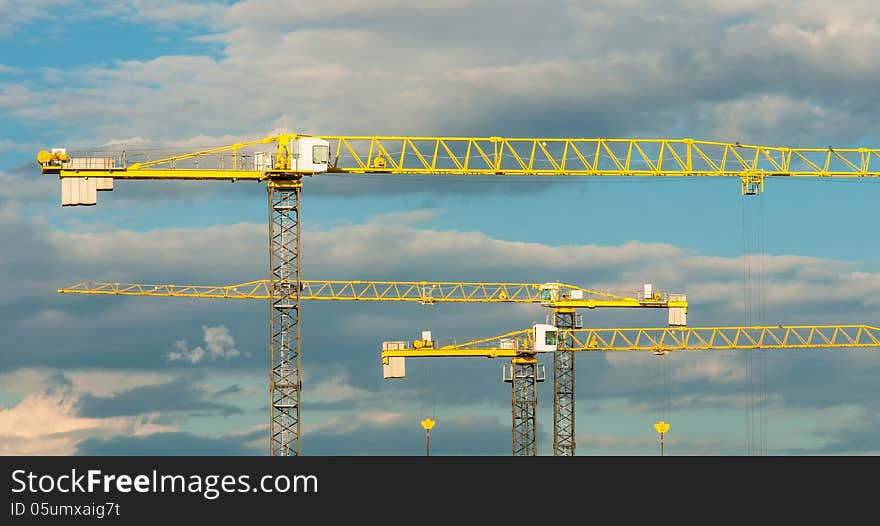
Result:
M554 328L555 329L555 328ZM670 351L737 349L843 349L880 347L880 328L869 325L791 325L774 327L659 327L565 329L552 331L556 341L571 337L566 351ZM544 334L544 333L541 333ZM539 334L539 336L541 335ZM535 329L477 340L438 345L416 340L386 342L382 359L391 357L486 358L534 355Z

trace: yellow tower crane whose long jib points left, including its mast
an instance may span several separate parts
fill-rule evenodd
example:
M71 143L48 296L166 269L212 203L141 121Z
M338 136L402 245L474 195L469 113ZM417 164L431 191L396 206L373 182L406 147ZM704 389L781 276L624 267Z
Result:
M271 284L256 280L236 285L157 285L143 283L80 282L58 289L61 294L158 296L187 298L270 299ZM645 284L641 291L623 296L565 283L480 283L438 281L332 281L301 280L300 300L382 301L434 303L531 303L553 309L554 319L571 320L580 327L578 309L663 308L669 325L687 321L687 297L655 291ZM574 356L563 350L554 354L553 444L554 454L575 453ZM564 365L556 361L565 356ZM398 367L385 367L386 375L400 375ZM543 376L541 377L543 379ZM514 406L515 407L515 406Z

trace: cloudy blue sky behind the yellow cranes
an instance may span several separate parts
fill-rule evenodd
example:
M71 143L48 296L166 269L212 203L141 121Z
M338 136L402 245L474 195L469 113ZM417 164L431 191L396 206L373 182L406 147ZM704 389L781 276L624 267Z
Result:
M877 146L868 0L0 0L0 454L265 454L269 307L60 296L81 280L267 274L266 193L117 182L59 206L51 147L314 134L693 137ZM540 181L328 175L303 192L309 279L566 281L685 292L691 325L880 318L873 181ZM750 258L746 254L760 253ZM383 340L489 336L538 306L306 304L304 454L510 452L499 360ZM590 311L589 326L662 326ZM582 354L577 451L877 454L876 351ZM547 362L548 374L550 362ZM539 450L552 445L539 386ZM757 400L765 399L761 405Z

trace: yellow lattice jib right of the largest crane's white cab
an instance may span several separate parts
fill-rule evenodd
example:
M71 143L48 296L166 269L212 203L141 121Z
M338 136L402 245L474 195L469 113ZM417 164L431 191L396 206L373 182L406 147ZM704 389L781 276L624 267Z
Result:
M321 136L347 173L878 177L880 149L693 139ZM388 152L387 154L383 152ZM382 158L378 168L376 160Z

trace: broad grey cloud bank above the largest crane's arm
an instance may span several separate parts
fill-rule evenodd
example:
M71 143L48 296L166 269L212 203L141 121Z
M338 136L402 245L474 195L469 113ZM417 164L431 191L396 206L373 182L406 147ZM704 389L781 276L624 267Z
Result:
M793 1L730 11L685 0L662 12L644 2L606 4L387 2L369 13L322 10L306 23L270 0L240 2L215 8L215 26L204 29L222 46L217 59L84 67L63 92L24 87L9 111L21 119L63 117L77 123L67 139L93 145L278 128L672 133L826 145L861 141L876 120L870 101L880 69L860 58L880 39L870 2L852 0L833 13ZM136 10L149 23L174 9L193 7ZM546 20L548 10L552 30L525 22ZM334 38L317 38L328 32ZM264 82L255 84L254 75ZM276 85L287 89L270 88ZM94 96L81 97L86 92Z

